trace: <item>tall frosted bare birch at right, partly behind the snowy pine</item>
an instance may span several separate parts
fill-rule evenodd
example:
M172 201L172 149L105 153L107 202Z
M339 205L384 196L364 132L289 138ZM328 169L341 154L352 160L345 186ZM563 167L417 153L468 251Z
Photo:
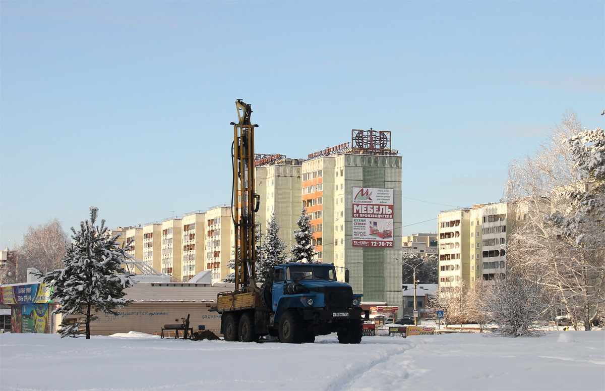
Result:
M508 263L540 272L550 304L575 329L603 312L605 281L605 137L564 114L549 142L509 165L507 196L517 202Z

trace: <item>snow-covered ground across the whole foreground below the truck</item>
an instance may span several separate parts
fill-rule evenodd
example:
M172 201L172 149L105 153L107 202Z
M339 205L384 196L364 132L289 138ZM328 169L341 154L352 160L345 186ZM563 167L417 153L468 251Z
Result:
M0 334L7 390L603 390L605 332L364 337L342 345Z

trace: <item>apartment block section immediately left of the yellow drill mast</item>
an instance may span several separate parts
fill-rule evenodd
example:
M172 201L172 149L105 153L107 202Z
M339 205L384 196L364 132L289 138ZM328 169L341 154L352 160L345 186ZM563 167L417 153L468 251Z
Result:
M233 222L231 220L231 206L214 206L206 212L206 268L212 271L212 282L227 277L230 270L229 260L232 259Z

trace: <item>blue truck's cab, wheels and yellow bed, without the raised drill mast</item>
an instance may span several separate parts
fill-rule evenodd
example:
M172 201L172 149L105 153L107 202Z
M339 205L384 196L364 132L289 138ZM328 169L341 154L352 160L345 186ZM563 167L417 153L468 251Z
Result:
M344 280L337 280L332 264L274 266L260 287L218 295L221 333L227 341L257 342L271 335L283 343L313 343L317 335L335 332L339 343L358 344L369 313L348 284L348 270Z

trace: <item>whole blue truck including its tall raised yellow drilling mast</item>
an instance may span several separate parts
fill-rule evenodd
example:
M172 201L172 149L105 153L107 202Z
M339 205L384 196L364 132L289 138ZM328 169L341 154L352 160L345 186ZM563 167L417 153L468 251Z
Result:
M272 335L285 343L309 343L316 335L338 333L340 343L360 343L362 295L354 295L344 280L336 279L336 268L324 263L286 263L273 266L259 287L255 265L256 212L260 196L255 192L254 130L252 108L241 99L235 102L238 122L232 143L234 226L233 291L217 296L215 310L221 314L221 333L227 341L257 342Z

